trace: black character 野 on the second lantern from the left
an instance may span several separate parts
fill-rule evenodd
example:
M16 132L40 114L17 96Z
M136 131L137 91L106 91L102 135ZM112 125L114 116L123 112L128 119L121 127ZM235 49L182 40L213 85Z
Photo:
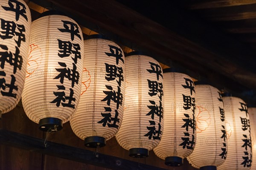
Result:
M59 53L58 56L63 58L63 57L69 57L71 54L74 54L74 58L71 57L73 59L73 61L75 63L77 63L77 59L81 59L81 53L79 52L80 45L79 44L75 44L75 43L71 43L70 41L62 41L62 40L58 40L58 46L59 46ZM74 50L72 49L74 48Z

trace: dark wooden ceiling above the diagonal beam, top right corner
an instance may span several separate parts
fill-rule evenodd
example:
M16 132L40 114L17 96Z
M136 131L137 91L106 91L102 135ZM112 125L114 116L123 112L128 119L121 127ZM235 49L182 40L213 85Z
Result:
M256 53L256 0L180 0L180 6Z

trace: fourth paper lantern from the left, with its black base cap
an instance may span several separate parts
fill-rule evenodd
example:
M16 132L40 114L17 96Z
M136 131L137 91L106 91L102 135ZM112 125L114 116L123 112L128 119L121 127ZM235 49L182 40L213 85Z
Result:
M139 52L125 57L125 111L117 142L132 157L147 157L163 132L163 72L153 58Z

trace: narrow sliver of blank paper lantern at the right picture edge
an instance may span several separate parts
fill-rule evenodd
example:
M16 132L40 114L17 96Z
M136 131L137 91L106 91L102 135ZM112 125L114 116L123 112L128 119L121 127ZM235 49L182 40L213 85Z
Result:
M252 140L252 166L251 170L256 169L256 108L248 108L250 115L250 130Z

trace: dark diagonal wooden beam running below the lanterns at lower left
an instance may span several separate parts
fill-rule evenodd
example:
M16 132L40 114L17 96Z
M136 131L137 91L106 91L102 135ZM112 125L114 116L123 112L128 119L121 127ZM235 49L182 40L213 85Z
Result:
M47 147L44 147L44 140L32 136L26 136L9 130L0 129L0 144L17 147L24 150L39 152L42 154L55 156L63 159L92 164L99 167L105 167L113 170L166 170L159 167L153 167L147 164L140 164L135 161L117 158L99 153L97 158L95 152L76 147L67 146L55 142L47 141Z

